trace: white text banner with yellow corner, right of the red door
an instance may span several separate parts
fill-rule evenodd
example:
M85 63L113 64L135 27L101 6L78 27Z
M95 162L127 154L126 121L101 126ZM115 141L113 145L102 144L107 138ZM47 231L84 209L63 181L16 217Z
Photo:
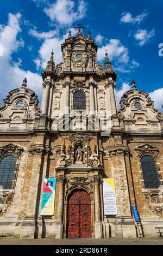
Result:
M114 178L103 179L104 215L117 215Z

